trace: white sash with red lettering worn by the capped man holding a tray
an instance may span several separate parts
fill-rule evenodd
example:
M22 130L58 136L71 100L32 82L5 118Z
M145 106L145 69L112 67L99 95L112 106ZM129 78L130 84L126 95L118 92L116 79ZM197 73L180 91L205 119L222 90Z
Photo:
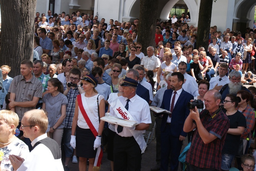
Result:
M113 110L118 118L136 121L132 117L132 115L125 109L125 106L120 102L120 100L118 98L116 100L113 100L110 103L110 105L113 108ZM134 139L136 140L136 142L139 144L141 153L144 153L144 151L147 147L147 144L144 140L142 131L130 130L130 129L129 129L129 131L131 132L131 134L134 137Z

